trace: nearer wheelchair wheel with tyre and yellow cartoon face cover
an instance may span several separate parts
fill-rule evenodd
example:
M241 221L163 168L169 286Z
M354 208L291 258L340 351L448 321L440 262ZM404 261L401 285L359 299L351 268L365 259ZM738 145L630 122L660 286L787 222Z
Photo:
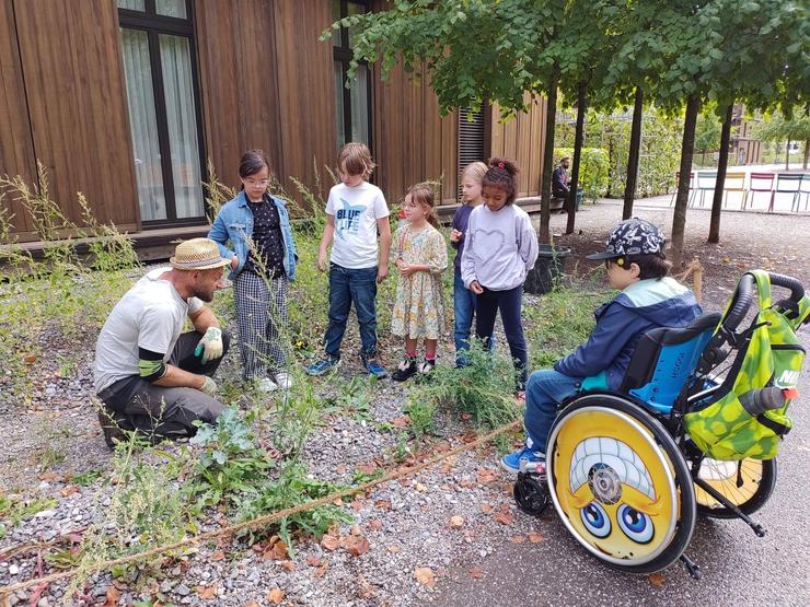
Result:
M548 436L548 490L574 537L606 564L634 573L669 567L695 526L695 493L672 436L628 399L588 394Z

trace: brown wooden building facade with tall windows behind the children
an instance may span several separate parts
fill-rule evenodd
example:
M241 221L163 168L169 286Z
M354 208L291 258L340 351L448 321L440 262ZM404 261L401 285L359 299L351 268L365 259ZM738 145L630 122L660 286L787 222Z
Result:
M390 205L408 185L443 177L454 202L459 168L490 154L523 167L521 196L539 191L545 106L498 122L439 116L435 94L402 71L383 82L361 66L343 86L347 32L339 16L373 0L0 0L0 174L36 183L37 161L66 217L83 192L101 222L160 234L205 231L207 162L239 183L240 155L265 150L288 191L312 186L349 140L370 144ZM42 185L42 184L40 184ZM35 241L5 196L14 234Z

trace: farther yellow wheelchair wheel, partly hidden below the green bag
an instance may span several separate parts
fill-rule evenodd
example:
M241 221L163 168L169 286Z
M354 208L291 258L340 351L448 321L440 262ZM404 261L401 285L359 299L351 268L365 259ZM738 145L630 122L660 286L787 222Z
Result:
M704 457L697 477L706 481L733 505L745 514L760 510L768 501L776 486L776 459L754 459L741 462L720 462ZM737 518L720 502L695 486L697 512L713 518Z

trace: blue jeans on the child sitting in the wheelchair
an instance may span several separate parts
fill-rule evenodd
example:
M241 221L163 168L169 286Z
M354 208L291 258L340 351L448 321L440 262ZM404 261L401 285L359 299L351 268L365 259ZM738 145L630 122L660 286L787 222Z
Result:
M557 406L577 394L581 382L581 377L570 377L553 369L541 369L530 375L525 387L524 418L529 448L545 453Z

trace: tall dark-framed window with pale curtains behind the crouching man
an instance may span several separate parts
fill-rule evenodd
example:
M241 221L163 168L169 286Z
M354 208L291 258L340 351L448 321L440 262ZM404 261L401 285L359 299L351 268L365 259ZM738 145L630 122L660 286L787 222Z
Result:
M194 24L187 0L118 0L141 221L205 217Z

